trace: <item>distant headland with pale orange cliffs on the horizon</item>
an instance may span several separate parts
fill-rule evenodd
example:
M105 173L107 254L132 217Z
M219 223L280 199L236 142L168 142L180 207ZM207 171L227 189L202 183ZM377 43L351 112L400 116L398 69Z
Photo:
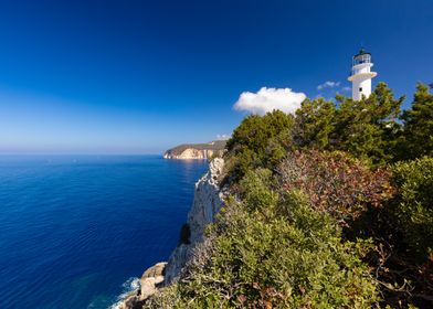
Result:
M225 140L214 140L208 143L184 143L171 148L163 154L165 159L209 159L213 156L222 156Z

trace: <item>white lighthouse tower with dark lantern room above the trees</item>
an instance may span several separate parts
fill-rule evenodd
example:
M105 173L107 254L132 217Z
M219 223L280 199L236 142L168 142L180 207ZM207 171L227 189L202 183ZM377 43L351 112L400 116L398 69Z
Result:
M352 99L360 100L362 95L369 97L371 94L371 78L378 73L371 72L371 54L361 49L352 58L352 70L349 81L352 82Z

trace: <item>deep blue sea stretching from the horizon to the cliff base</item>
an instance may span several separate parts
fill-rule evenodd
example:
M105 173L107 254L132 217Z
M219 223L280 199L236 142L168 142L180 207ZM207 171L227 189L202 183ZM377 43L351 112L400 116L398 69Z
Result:
M178 242L205 161L0 156L0 308L109 308Z

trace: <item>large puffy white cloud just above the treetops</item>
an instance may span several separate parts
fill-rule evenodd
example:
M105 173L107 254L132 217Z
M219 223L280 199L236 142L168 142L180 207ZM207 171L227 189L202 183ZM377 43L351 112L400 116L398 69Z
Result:
M234 104L234 109L247 110L260 115L264 115L274 109L293 114L300 107L300 103L306 97L304 93L294 93L289 88L263 87L257 93L242 93Z

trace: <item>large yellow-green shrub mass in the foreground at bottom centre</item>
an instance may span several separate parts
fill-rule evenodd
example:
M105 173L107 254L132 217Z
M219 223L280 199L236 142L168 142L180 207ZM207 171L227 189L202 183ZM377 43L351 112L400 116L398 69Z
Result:
M210 246L196 252L196 260L170 298L173 308L186 303L188 308L367 308L374 303L376 285L360 259L369 244L342 243L335 220L313 210L298 191L276 199L266 189L267 175L268 171L260 170L242 180L244 201L228 206L213 227Z

